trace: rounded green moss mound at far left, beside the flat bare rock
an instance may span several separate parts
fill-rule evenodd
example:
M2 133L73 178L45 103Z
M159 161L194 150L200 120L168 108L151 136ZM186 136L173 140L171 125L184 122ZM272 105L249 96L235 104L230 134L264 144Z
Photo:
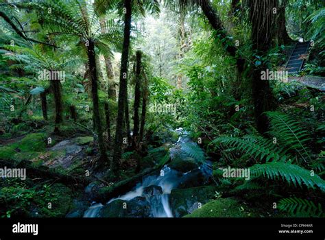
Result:
M32 133L25 136L19 142L22 152L42 152L46 146L46 136L43 133Z

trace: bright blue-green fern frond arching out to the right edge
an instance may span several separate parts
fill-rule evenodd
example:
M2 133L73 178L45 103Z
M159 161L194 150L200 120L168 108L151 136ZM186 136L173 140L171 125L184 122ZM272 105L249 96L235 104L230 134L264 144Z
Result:
M325 181L320 176L315 173L311 174L311 171L291 163L257 164L250 167L250 173L251 178L265 176L272 180L282 179L289 184L293 183L295 186L298 184L300 187L302 187L302 184L311 189L315 189L315 186L317 186L322 191L325 191Z

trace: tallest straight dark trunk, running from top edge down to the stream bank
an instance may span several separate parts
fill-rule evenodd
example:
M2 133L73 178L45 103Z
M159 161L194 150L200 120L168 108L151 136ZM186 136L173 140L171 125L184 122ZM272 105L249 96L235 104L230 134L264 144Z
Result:
M131 19L132 8L131 1L124 1L125 16L124 16L124 39L123 39L123 51L121 56L121 72L119 77L119 101L117 109L117 127L115 133L115 145L114 154L112 160L112 171L117 173L119 170L119 160L121 159L121 148L123 141L123 115L125 108L125 98L127 95L127 77L128 77L128 59L129 59L129 47L130 47L130 33L131 33Z

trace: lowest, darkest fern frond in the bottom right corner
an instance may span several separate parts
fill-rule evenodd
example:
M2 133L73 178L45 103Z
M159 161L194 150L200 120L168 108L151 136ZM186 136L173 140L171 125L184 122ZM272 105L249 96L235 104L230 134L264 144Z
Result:
M283 198L278 203L278 208L294 217L322 217L324 215L320 203L316 206L313 202L298 197Z

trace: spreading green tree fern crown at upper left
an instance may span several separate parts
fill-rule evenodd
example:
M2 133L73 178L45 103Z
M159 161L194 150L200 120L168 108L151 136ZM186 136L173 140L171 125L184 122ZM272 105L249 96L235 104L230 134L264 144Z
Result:
M37 22L56 40L76 43L79 53L86 52L88 41L93 41L99 53L112 55L112 48L121 49L123 25L108 19L106 32L101 33L96 5L85 0L33 1L25 8L36 10ZM64 36L64 38L62 38Z

